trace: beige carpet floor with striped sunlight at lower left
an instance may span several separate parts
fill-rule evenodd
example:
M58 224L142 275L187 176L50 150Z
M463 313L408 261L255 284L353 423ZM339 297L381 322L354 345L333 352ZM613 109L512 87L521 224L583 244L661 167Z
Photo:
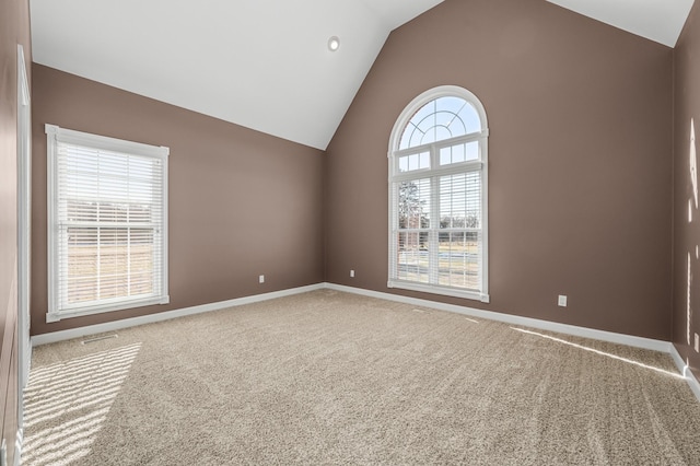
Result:
M700 464L666 354L329 290L32 364L25 465Z

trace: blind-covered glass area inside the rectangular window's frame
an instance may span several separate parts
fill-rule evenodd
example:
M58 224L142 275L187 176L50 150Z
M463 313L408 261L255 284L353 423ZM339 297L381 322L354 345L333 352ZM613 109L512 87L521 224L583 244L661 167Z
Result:
M62 302L158 293L160 160L65 143L58 151L58 217L67 235L59 244L66 260Z

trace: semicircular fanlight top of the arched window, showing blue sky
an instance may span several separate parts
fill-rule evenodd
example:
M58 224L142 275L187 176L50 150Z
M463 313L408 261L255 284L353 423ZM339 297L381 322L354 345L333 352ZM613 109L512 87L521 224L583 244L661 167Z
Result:
M417 148L488 129L483 105L464 88L443 85L411 102L394 127L390 151Z

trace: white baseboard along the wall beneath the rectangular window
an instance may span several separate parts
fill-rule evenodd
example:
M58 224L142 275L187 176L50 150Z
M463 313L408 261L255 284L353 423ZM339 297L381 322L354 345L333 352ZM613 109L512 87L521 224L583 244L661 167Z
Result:
M275 300L278 298L291 296L294 294L306 293L310 291L322 290L325 283L310 284L306 287L292 288L289 290L273 291L271 293L254 294L250 296L236 298L229 301L220 301L217 303L201 304L198 306L184 307L174 311L165 311L161 313L143 315L140 317L125 318L121 321L107 322L105 324L89 325L86 327L71 328L69 330L52 331L50 334L42 334L32 337L32 346L55 343L58 341L81 338L86 335L103 334L106 331L115 331L122 328L136 327L138 325L152 324L155 322L170 321L177 317L186 317L188 315L202 314L212 311L220 311L228 307L242 306L244 304L258 303L261 301Z

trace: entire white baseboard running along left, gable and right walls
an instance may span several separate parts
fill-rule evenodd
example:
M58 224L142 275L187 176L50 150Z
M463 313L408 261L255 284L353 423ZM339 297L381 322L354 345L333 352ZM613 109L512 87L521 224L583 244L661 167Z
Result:
M290 290L275 291L271 293L256 294L253 296L237 298L218 303L202 304L198 306L185 307L175 311L166 311L158 314L145 315L141 317L126 318L122 321L109 322L105 324L90 325L86 327L73 328L70 330L54 331L32 337L32 346L47 345L57 341L70 340L73 338L84 337L86 335L102 334L115 331L122 328L135 327L137 325L151 324L154 322L168 321L188 315L201 314L211 311L219 311L228 307L241 306L244 304L257 303L260 301L273 300L277 298L291 296L293 294L306 293L315 290L336 290L347 293L360 294L363 296L377 298L381 300L395 301L416 306L431 307L439 311L447 311L470 317L483 318L489 321L503 322L512 325L521 325L525 327L539 328L542 330L557 331L559 334L573 335L576 337L591 338L595 340L609 341L618 345L627 345L634 348L643 348L653 351L660 351L669 354L676 363L680 373L688 381L690 389L700 400L700 383L688 369L685 361L676 350L676 347L669 341L655 340L652 338L635 337L631 335L616 334L606 330L596 330L593 328L579 327L569 324L559 324L556 322L541 321L530 317L522 317L511 314L502 314L493 311L482 311L472 307L459 306L455 304L445 304L436 301L421 300L417 298L402 296L399 294L384 293L381 291L364 290L361 288L347 287L336 283L316 283L307 287L292 288Z

